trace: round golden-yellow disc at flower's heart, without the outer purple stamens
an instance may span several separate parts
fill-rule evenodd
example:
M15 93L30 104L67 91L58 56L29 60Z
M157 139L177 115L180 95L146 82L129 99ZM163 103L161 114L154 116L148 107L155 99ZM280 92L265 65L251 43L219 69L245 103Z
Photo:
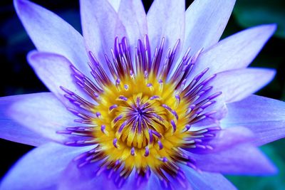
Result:
M124 158L126 167L159 167L180 147L189 105L175 97L175 86L155 75L127 75L108 85L93 112L94 137L110 159Z

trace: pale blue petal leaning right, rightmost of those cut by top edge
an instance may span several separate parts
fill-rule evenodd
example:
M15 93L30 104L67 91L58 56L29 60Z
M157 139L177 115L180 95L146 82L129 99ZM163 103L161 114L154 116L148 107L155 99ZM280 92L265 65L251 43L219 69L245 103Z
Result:
M185 44L183 53L192 48L192 55L219 41L235 0L196 0L185 12Z

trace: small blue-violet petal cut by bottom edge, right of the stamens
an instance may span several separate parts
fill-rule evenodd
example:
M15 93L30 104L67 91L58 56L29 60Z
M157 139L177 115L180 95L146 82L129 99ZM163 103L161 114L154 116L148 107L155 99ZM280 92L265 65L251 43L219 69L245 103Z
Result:
M185 175L188 181L192 184L193 190L200 189L223 189L223 190L233 190L237 189L230 181L228 181L221 174L214 174L209 172L194 171L189 167L183 167Z

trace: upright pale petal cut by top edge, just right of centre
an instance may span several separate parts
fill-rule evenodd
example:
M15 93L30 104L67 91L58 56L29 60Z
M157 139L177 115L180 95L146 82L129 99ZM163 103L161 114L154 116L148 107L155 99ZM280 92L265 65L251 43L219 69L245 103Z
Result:
M180 39L183 46L185 36L185 1L155 0L147 12L147 28L152 53L165 37L165 53ZM162 56L165 58L165 56Z

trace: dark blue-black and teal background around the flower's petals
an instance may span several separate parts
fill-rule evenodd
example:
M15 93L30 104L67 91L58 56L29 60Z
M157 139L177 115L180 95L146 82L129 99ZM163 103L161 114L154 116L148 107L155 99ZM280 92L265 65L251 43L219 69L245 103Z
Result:
M34 1L45 6L81 31L78 1ZM187 1L187 6L192 1ZM151 1L144 1L148 10ZM277 23L278 30L266 44L252 66L275 68L274 80L257 94L285 100L285 1L237 0L234 12L222 38L250 26ZM26 54L34 49L14 11L11 0L0 1L0 97L48 91L26 62ZM43 107L44 109L44 107ZM285 113L284 113L285 114ZM17 159L32 149L28 145L0 139L0 177ZM275 176L227 176L239 189L285 189L285 140L267 144L261 149L279 168Z

